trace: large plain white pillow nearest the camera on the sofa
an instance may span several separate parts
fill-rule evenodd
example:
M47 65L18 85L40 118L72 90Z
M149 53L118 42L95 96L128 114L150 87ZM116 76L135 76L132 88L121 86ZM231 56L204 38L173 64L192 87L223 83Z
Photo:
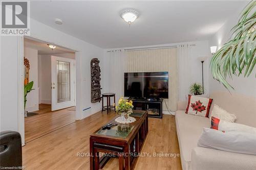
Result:
M245 132L221 132L203 128L199 147L256 155L256 135Z

